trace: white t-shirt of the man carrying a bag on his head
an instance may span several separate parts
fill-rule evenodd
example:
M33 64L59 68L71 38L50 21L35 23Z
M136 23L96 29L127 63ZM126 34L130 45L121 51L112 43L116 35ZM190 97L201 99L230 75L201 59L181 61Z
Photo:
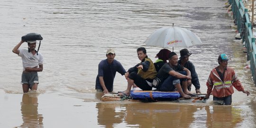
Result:
M23 65L23 71L25 70L26 67L36 67L40 64L43 64L44 58L43 56L38 53L33 55L31 52L28 52L28 49L18 49L19 54L18 56L21 57L22 59L22 65Z

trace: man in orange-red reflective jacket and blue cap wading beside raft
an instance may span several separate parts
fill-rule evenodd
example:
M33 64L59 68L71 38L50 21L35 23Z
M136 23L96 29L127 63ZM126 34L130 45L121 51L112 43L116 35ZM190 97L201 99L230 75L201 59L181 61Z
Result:
M219 66L211 70L210 76L206 82L208 87L206 99L209 99L210 94L213 95L213 101L221 105L231 105L232 94L234 93L233 86L238 90L247 94L234 69L228 67L229 57L226 54L220 54L218 58Z

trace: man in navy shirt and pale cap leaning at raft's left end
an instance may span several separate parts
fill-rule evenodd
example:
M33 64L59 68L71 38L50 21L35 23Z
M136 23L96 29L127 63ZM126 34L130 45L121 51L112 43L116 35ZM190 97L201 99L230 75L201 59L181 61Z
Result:
M108 49L106 53L107 59L102 60L98 67L98 75L96 78L95 89L97 92L103 92L104 94L113 91L114 78L116 72L124 75L126 73L122 64L115 60L114 49Z

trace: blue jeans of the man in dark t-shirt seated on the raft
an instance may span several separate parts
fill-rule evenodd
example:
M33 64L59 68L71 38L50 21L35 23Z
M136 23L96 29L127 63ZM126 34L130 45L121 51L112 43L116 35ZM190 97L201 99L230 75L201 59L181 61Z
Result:
M185 71L179 72L183 75L187 75ZM168 76L165 81L160 85L159 91L175 91L175 86L178 83L181 83L183 81L186 81L187 79L178 79L172 75Z

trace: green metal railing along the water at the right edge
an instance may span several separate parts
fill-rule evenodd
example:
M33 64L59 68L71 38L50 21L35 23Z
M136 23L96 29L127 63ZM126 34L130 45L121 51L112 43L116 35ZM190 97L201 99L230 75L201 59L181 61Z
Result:
M250 60L251 62L251 72L254 83L256 84L256 46L248 9L245 9L242 0L229 0L229 4L232 5L233 18L237 23L238 32L240 33L243 42L245 41L247 60Z

